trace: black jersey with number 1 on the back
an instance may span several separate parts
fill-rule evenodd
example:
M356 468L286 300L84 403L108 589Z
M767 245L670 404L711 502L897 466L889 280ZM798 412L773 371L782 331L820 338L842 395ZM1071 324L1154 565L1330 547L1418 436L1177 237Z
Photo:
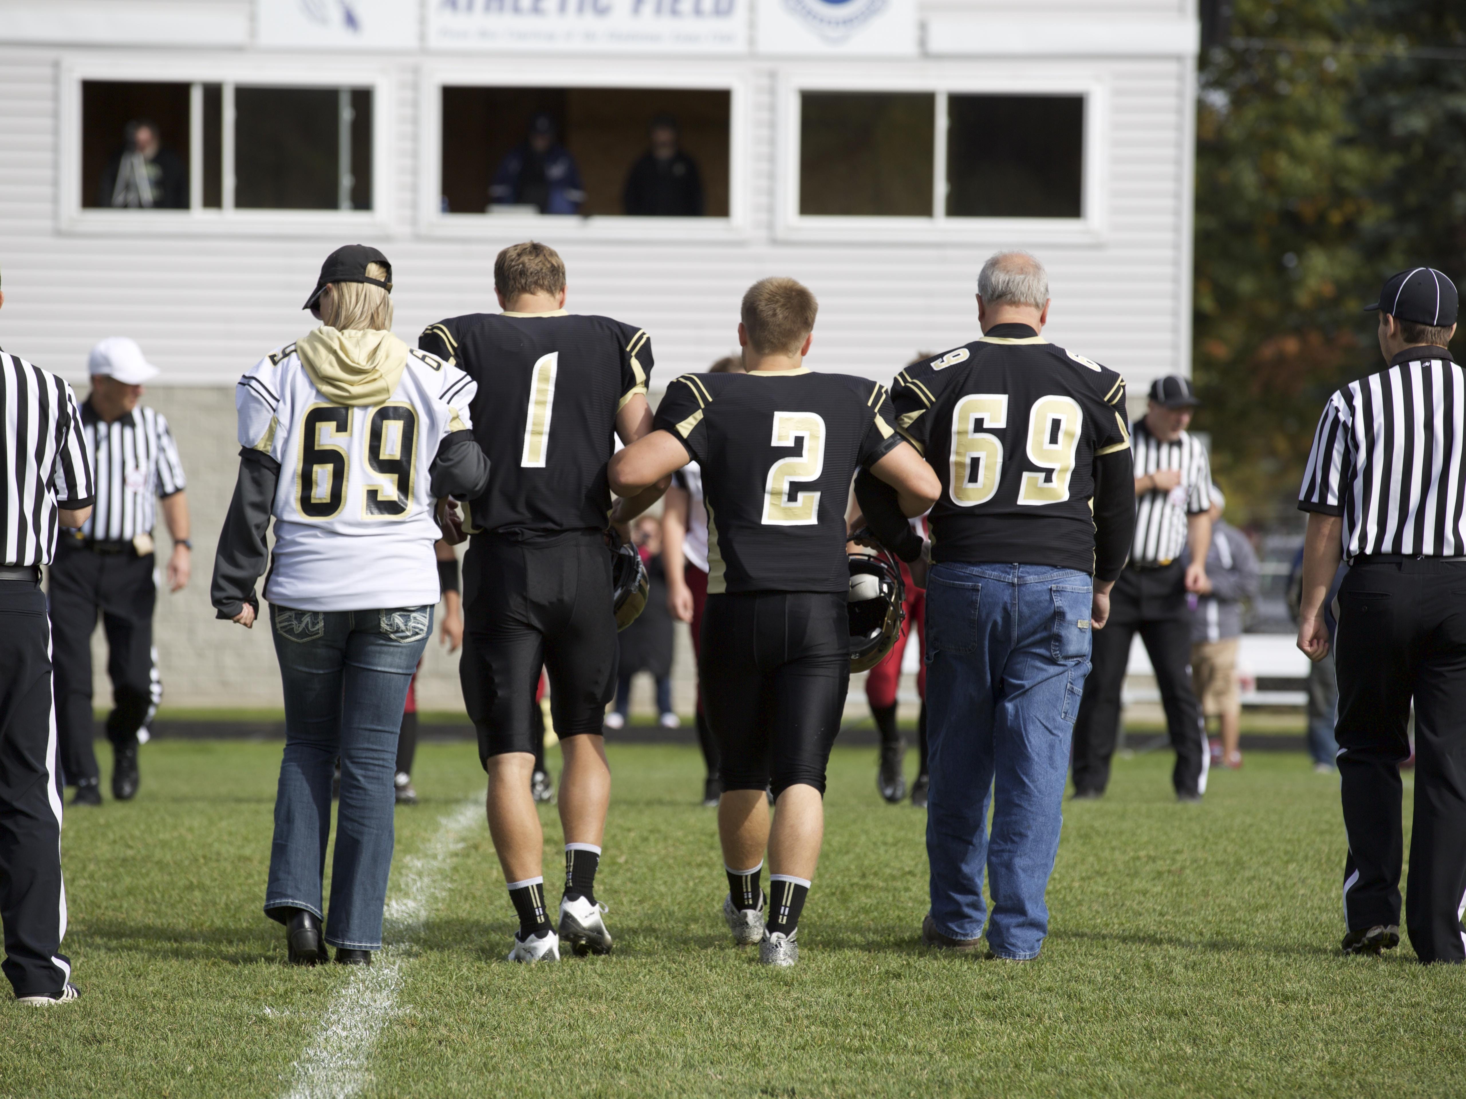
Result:
M488 489L465 528L513 538L604 528L616 413L651 375L651 340L608 317L469 314L430 325L418 347L478 382L474 431Z

